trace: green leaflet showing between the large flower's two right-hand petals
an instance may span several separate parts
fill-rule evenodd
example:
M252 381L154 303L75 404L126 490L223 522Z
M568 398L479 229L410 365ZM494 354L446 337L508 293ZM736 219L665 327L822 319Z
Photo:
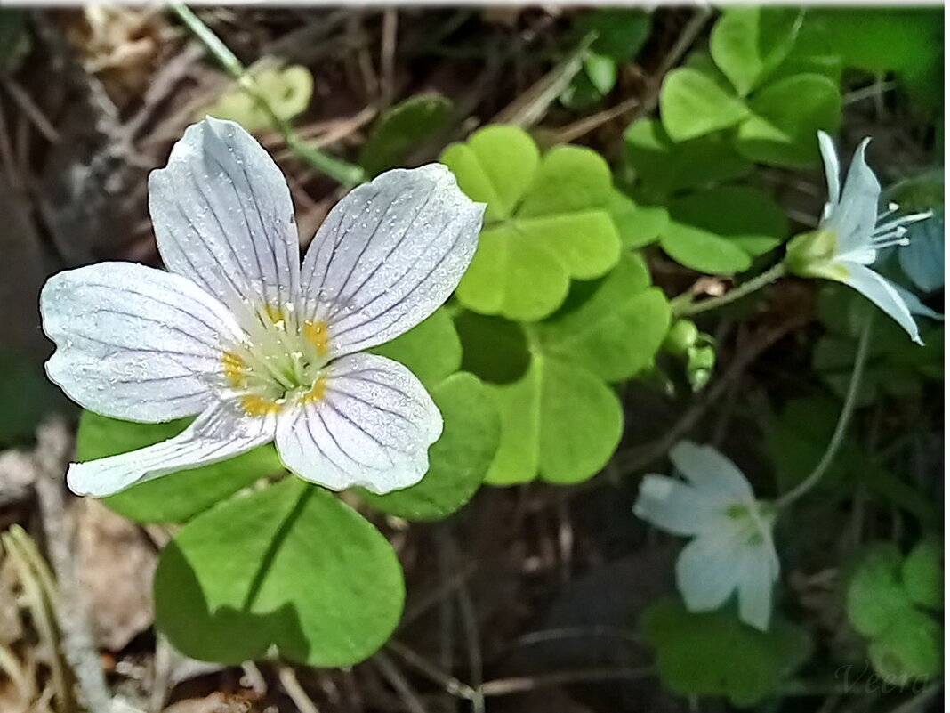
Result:
M405 334L369 350L405 364L427 387L440 383L462 365L462 342L445 307Z

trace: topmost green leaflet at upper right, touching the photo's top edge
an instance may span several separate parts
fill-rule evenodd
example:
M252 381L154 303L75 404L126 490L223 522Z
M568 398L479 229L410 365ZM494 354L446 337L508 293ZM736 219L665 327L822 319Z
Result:
M762 84L795 45L805 10L735 7L725 10L710 35L710 52L741 96Z

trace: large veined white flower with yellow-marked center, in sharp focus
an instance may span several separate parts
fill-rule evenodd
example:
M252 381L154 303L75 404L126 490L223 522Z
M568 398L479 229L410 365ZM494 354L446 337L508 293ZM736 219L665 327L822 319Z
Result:
M148 181L169 272L129 262L47 281L47 374L98 414L180 435L69 467L104 496L276 441L287 468L333 490L406 488L428 469L442 416L402 364L363 354L446 301L485 206L448 169L396 169L338 202L300 264L290 190L243 128L189 126Z

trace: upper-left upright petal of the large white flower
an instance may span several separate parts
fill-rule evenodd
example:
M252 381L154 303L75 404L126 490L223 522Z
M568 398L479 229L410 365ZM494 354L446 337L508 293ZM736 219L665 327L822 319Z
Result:
M209 117L185 129L168 165L148 177L148 205L168 269L237 314L295 299L300 244L290 190L240 125Z

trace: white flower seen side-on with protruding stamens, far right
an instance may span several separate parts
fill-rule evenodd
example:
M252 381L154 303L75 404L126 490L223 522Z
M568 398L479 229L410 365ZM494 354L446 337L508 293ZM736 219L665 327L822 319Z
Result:
M834 144L824 131L818 143L825 162L828 202L818 229L788 243L786 263L791 273L808 278L834 279L860 292L894 318L910 337L922 344L914 315L939 318L912 293L867 267L877 260L878 250L906 245L907 225L930 217L930 213L892 217L899 206L891 203L878 213L881 184L864 161L864 139L841 186L841 168Z

